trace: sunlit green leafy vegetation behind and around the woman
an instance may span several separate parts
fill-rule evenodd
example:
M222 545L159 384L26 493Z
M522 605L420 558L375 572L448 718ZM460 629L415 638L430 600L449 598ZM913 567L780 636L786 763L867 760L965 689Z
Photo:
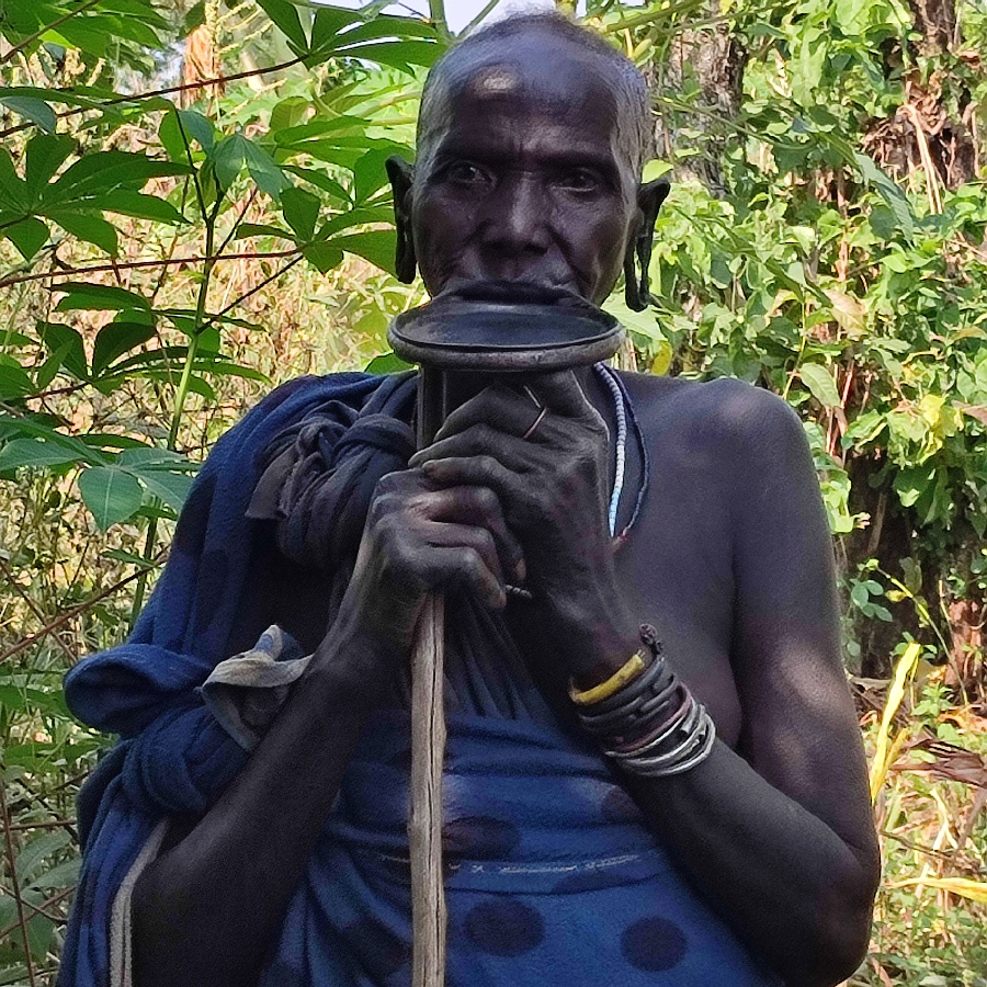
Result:
M0 987L54 983L109 742L65 670L126 636L217 435L297 374L394 368L423 300L383 163L453 38L442 0L388 10L0 2ZM781 394L819 470L885 860L850 983L985 987L987 5L579 13L674 181L653 308L608 306L622 365Z

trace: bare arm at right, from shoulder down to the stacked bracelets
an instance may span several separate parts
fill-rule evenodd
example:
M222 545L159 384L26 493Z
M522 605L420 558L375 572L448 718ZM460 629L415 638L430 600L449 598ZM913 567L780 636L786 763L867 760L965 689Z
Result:
M711 905L789 985L828 987L863 960L880 880L832 544L797 417L753 388L727 401L740 744L626 779Z

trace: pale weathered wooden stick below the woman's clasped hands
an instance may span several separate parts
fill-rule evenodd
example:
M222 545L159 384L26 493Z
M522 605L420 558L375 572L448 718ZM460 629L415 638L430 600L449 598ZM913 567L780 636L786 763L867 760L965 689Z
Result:
M426 600L411 656L412 985L445 984L445 888L442 885L442 760L445 619L441 593Z

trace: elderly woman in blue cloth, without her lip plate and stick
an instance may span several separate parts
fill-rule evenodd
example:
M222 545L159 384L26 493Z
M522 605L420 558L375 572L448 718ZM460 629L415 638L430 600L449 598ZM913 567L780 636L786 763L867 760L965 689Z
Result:
M469 37L429 77L413 168L389 163L401 275L599 304L625 273L637 300L667 192L640 184L648 127L634 67L568 21ZM797 418L597 366L463 388L416 453L415 387L271 395L203 469L134 639L69 674L123 740L80 806L63 983L408 983L433 589L450 983L849 976L877 853Z

